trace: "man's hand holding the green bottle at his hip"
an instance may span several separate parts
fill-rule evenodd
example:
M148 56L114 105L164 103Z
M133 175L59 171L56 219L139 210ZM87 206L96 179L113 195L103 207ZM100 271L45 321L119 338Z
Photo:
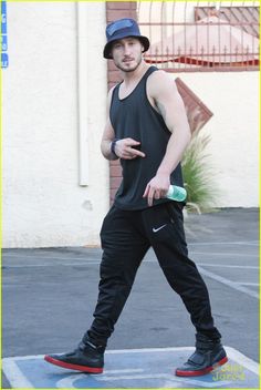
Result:
M153 206L154 199L160 199L165 197L170 185L169 175L157 174L148 182L143 197L148 198L148 205Z

